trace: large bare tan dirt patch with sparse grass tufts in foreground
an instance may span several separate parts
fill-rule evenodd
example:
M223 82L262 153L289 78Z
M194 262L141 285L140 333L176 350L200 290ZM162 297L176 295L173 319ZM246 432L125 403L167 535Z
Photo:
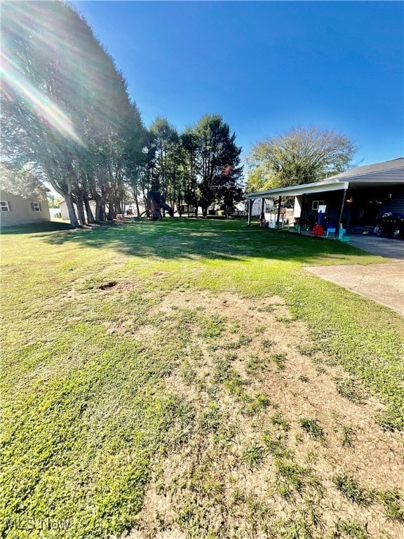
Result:
M166 388L194 408L192 435L156 458L128 537L402 538L381 494L404 497L403 437L377 425L377 398L338 392L346 373L282 298L172 293L152 314L185 308L191 339Z

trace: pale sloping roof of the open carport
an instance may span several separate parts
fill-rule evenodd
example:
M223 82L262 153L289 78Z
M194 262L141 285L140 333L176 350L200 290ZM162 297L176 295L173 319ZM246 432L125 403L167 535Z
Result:
M372 165L357 166L350 171L342 172L320 182L293 185L280 189L268 189L248 193L247 199L262 199L271 197L295 197L299 194L337 191L339 189L358 187L383 187L385 185L404 186L404 157L383 161Z

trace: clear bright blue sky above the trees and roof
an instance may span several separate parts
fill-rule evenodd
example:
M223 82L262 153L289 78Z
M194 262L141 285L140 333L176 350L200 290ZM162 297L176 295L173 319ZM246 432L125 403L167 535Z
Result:
M72 2L128 81L144 123L219 113L243 154L292 126L403 157L402 2Z

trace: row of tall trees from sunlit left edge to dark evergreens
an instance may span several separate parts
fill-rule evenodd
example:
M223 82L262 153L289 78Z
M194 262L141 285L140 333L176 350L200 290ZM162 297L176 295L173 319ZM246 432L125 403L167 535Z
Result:
M47 182L73 227L116 218L128 196L139 213L149 189L180 215L199 206L206 216L213 203L228 212L241 199L241 148L219 114L183 133L163 117L147 128L123 74L72 6L6 2L1 15L4 188L28 197Z

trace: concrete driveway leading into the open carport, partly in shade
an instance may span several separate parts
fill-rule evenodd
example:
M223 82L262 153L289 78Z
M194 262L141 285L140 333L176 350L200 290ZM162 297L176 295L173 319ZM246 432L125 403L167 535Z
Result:
M349 245L388 258L389 262L367 266L344 264L304 269L404 316L404 241L375 236L351 236Z

